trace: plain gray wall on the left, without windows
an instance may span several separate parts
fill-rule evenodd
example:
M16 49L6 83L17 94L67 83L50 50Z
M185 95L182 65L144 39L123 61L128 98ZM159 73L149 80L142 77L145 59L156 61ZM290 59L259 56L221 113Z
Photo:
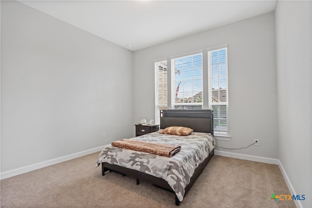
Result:
M132 91L131 51L1 1L1 172L133 136Z

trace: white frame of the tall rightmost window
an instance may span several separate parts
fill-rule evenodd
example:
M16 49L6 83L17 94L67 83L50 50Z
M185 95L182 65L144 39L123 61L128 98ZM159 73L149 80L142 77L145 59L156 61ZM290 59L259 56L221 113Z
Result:
M218 50L226 50L226 102L213 103L213 69L212 69L212 52ZM209 85L209 108L213 109L213 105L226 105L226 129L215 129L214 126L214 134L217 136L226 136L229 137L229 79L228 79L228 45L219 45L212 48L207 48L207 56L208 56L208 85ZM218 89L219 90L219 89ZM214 117L216 113L214 112Z

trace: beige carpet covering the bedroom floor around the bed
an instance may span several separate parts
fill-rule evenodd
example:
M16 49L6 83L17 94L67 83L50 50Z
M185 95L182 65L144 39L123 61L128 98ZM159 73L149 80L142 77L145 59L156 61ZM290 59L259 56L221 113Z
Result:
M1 180L1 207L175 208L175 195L117 173L101 174L98 153ZM274 202L290 194L276 165L214 156L190 189L181 208L295 207Z

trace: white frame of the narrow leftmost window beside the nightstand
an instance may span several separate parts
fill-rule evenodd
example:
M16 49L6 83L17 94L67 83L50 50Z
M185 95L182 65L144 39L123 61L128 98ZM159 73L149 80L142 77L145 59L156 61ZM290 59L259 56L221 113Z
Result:
M160 123L160 110L161 109L168 109L168 62L167 59L160 59L160 60L156 60L154 61L155 63L155 124L159 124ZM163 87L162 89L159 88L159 70L158 67L159 65L162 64L166 64L166 69L167 69L167 76L164 82L162 83L166 83L165 87ZM163 85L164 86L164 85ZM167 99L165 100L165 103L159 104L159 90L164 90L167 91Z

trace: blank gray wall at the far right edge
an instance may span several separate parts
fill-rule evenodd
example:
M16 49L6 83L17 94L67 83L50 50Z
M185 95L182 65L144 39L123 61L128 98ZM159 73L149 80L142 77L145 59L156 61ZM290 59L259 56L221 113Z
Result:
M276 65L279 160L303 207L312 207L311 1L278 1Z

